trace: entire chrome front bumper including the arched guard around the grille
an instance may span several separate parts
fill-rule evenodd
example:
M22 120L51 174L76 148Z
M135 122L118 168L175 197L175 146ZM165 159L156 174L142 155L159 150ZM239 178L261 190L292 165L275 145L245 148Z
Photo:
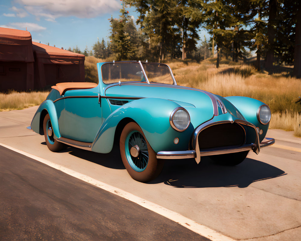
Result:
M200 147L198 144L198 136L201 131L205 130L208 127L211 127L213 125L218 125L218 124L225 124L225 123L236 123L238 125L242 126L247 126L253 129L256 133L256 138L254 143L251 144L244 144L242 146L222 146L222 147L216 147L216 148L209 148L209 149L202 149L200 151ZM253 150L256 154L259 153L260 148L266 147L273 145L275 143L275 139L273 138L265 138L262 140L261 143L259 143L259 134L256 129L256 127L244 120L225 120L225 121L208 121L199 127L197 127L194 130L193 136L192 136L192 147L194 150L191 151L161 151L157 153L157 158L160 159L184 159L184 158L195 158L196 162L200 162L200 157L201 156L210 156L210 155L221 155L221 154L227 154L227 153L234 153L234 152L244 152L244 151L250 151Z

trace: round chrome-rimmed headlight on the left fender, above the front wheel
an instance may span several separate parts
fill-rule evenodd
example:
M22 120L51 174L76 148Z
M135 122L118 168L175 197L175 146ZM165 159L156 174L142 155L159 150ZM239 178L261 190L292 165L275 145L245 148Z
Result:
M169 122L173 129L184 131L190 124L190 116L184 108L177 107L172 111Z

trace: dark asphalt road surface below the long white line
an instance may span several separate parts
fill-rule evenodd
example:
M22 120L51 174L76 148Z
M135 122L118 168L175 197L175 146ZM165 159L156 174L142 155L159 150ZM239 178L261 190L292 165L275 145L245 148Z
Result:
M0 240L209 240L0 146Z

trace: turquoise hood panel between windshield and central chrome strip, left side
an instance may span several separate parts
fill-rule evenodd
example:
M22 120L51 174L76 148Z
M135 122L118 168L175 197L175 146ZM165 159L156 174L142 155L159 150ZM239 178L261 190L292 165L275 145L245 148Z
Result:
M212 119L217 108L215 95L199 89L163 84L127 84L114 85L105 90L106 96L160 98L175 101L190 114L191 123L196 127ZM214 103L214 104L213 104Z

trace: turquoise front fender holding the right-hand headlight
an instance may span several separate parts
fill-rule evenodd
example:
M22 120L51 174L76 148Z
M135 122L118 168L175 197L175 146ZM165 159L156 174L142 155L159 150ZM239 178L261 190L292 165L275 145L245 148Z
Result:
M264 139L266 132L268 131L269 124L263 125L258 121L257 111L258 108L265 103L244 96L228 96L225 97L225 99L231 102L246 118L247 121L258 127L259 130L262 130L262 134L259 135L259 141L261 142Z

